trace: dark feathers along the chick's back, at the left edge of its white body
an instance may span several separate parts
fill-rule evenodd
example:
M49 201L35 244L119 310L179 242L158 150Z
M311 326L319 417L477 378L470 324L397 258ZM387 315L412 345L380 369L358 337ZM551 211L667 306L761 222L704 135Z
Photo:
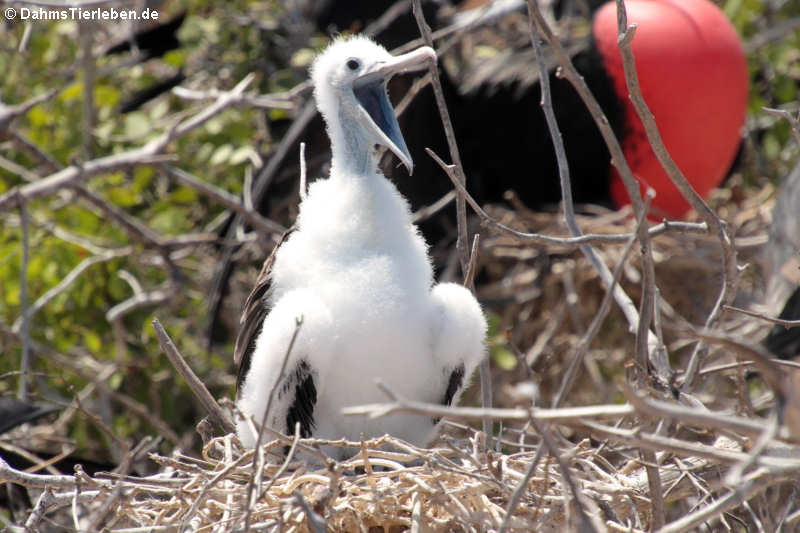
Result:
M237 396L241 393L242 384L250 371L250 361L256 347L256 339L261 333L264 319L270 312L269 294L272 288L272 265L275 263L275 254L294 230L294 227L289 228L272 249L272 253L261 267L255 287L244 304L244 311L239 319L239 334L236 336L236 346L233 349L233 361L239 365L236 373Z

